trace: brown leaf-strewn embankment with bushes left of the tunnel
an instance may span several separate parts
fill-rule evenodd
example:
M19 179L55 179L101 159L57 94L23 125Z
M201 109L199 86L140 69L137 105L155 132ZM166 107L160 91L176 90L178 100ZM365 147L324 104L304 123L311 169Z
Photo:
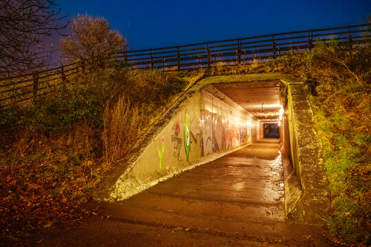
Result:
M91 191L186 86L177 73L110 69L1 110L0 241L97 215Z

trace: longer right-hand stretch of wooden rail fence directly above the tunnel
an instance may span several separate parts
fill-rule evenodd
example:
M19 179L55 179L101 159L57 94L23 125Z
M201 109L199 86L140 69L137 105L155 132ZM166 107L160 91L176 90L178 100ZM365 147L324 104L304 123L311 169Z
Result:
M287 51L311 49L320 39L328 43L335 38L340 45L366 42L370 24L333 27L319 30L303 30L280 34L267 34L247 38L234 38L192 45L177 45L156 49L126 51L118 58L134 68L164 69L168 71L212 67L224 64L245 64L280 56Z

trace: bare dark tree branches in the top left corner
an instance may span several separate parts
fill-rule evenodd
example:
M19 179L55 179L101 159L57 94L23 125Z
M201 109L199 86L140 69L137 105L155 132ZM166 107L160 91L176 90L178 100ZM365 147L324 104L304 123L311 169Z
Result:
M0 75L23 74L49 64L45 38L63 30L53 0L0 1Z

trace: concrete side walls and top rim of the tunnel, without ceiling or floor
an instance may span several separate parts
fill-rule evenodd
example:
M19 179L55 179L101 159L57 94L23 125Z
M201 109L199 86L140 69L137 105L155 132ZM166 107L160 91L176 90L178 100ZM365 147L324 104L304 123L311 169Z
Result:
M286 217L322 224L319 218L326 215L329 202L323 161L319 152L320 143L313 129L313 113L304 84L292 75L281 73L221 75L203 78L196 82L179 98L176 104L164 113L154 128L144 134L143 139L136 144L137 149L133 156L125 161L128 169L118 169L117 172L111 174L110 179L107 179L106 183L96 191L95 200L123 200L155 185L160 180L172 177L173 174L212 161L229 152L234 152L238 147L244 147L247 143L262 138L262 124L259 124L259 121L254 119L250 113L214 86L210 89L209 85L272 80L280 80L287 86L286 97L281 97L284 115L280 135ZM238 123L238 121L232 121L237 113L247 121L251 121L251 136L249 136L247 126L246 128L241 126L240 132L240 128L234 125ZM190 127L190 149L188 151L185 148L184 138L186 137L184 129L187 116ZM239 115L236 115L236 120L238 120L237 116ZM216 125L214 125L213 117ZM224 124L227 119L229 125L223 126L220 137L215 133L216 129L221 128L220 123L223 124L223 117ZM204 121L201 121L202 119ZM243 121L240 122L243 123ZM233 142L233 136L232 141L226 138L230 132L240 133L238 137L242 138L238 145L233 146L233 143L236 143L236 141ZM214 145L210 139L207 142L207 134L211 140L214 140ZM159 151L162 152L163 136L164 152L161 154L161 169L159 169ZM222 140L221 145L216 145L219 144L218 140ZM186 152L188 152L188 161Z

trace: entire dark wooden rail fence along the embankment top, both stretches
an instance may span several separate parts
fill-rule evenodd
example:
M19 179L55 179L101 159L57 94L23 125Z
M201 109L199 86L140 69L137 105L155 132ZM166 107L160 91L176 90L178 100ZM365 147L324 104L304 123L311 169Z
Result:
M135 69L181 71L210 68L216 64L247 64L254 60L271 60L287 51L306 51L322 40L336 39L339 45L370 43L371 24L348 25L317 30L303 30L234 38L192 45L177 45L110 54L115 62L130 64ZM88 62L80 61L65 66L27 75L0 79L0 107L26 102L39 95L51 93L78 73L87 71ZM86 65L86 66L85 66Z

